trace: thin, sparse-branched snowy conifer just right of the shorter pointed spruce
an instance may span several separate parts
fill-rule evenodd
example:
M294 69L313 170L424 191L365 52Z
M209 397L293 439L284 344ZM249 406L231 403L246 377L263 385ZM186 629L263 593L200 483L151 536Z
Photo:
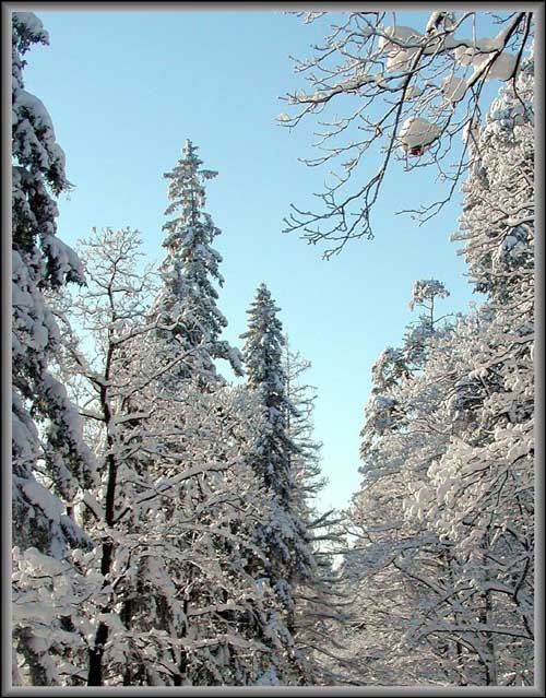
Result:
M286 428L297 450L290 457L294 482L294 506L310 537L316 575L296 587L295 637L298 647L312 662L314 684L333 685L340 676L332 672L340 624L347 620L340 576L334 569L333 554L343 546L341 518L334 510L320 512L316 499L325 485L321 474L322 443L314 438L314 402L317 390L305 382L311 363L290 348L288 336L282 354L286 378L285 393L295 410L286 415Z

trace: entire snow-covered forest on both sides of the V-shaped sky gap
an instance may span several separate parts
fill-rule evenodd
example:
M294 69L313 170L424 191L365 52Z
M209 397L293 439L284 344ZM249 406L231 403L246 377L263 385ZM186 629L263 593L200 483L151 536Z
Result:
M532 58L465 131L453 239L486 300L447 316L416 281L372 369L361 486L321 512L310 364L265 284L241 350L222 339L216 173L187 141L158 269L130 228L69 248L64 154L23 80L48 35L12 28L13 684L532 685ZM383 32L392 70L414 39Z

